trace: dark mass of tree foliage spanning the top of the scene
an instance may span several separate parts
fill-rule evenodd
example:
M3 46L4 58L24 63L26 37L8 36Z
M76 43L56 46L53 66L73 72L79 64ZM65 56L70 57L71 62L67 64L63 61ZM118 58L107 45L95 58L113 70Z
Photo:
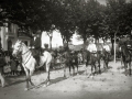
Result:
M86 42L94 35L113 37L130 34L132 29L132 2L107 0L1 0L0 25L8 21L24 30L59 30L67 43L75 31ZM51 33L51 32L50 32Z

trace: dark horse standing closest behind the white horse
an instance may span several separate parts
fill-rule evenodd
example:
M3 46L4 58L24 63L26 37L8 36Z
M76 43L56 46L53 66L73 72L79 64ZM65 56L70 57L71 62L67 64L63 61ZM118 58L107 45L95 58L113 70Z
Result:
M78 74L78 57L76 52L72 53L70 51L65 51L62 56L62 61L64 64L64 77L66 77L66 67L68 66L69 68L69 76L75 74L75 66L77 67L77 74ZM73 68L73 74L72 74L72 68Z

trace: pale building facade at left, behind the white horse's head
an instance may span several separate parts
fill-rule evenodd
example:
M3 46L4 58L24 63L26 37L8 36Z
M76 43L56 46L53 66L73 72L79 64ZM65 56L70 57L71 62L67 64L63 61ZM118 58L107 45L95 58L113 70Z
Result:
M23 41L28 46L31 41L31 37L24 35L14 23L6 23L4 26L0 26L0 37L3 51L12 51L16 38Z

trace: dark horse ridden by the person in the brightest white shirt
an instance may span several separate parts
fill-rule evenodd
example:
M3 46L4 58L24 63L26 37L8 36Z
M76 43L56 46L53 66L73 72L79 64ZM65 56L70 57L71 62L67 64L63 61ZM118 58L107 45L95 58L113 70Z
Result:
M85 63L85 68L86 68L86 75L87 75L87 66L91 65L91 75L95 75L97 73L97 64L98 64L98 73L101 74L100 69L100 59L101 59L101 53L97 51L96 55L91 54L89 51L84 51L82 52L84 56L84 63ZM95 69L95 72L94 72Z

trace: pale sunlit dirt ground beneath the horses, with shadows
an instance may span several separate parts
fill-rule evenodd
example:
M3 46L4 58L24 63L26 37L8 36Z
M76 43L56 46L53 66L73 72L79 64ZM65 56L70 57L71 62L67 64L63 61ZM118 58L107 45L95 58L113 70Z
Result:
M40 86L29 91L24 91L24 76L7 78L7 87L0 87L0 99L132 99L132 76L124 75L120 62L110 62L109 69L88 78L80 66L79 75L64 78L62 69L53 70L48 87ZM32 77L35 85L44 79L44 73Z

